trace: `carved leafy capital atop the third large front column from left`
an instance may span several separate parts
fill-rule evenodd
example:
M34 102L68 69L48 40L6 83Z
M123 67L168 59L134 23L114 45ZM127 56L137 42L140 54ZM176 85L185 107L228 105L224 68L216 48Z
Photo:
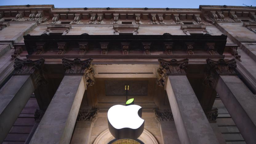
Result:
M188 66L188 59L176 60L172 59L170 61L166 61L163 59L158 59L159 62L159 69L157 70L158 73L158 86L166 86L166 81L168 75L181 75L186 74L187 66Z

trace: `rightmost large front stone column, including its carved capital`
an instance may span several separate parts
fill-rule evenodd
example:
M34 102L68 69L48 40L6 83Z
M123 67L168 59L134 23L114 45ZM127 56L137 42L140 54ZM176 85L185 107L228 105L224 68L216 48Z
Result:
M205 84L218 93L246 143L256 142L256 98L235 72L236 61L207 59Z

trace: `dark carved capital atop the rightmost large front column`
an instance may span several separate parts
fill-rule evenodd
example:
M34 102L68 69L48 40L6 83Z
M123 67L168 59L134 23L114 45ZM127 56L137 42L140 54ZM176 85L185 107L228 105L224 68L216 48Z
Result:
M219 59L218 61L206 59L206 77L204 84L206 86L216 87L219 75L236 75L236 61L234 59L225 61L224 59Z

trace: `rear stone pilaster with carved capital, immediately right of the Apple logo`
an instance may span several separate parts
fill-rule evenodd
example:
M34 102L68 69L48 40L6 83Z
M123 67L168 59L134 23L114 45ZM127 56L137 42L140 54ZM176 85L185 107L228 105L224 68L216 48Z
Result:
M154 113L155 119L159 122L163 144L170 142L179 144L180 141L171 110L154 109Z

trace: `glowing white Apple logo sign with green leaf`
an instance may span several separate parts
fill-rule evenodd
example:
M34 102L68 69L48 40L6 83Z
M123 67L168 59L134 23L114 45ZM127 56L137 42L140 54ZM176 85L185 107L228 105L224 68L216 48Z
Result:
M114 138L138 138L144 130L142 107L134 105L134 98L126 106L115 105L108 110L108 128Z

